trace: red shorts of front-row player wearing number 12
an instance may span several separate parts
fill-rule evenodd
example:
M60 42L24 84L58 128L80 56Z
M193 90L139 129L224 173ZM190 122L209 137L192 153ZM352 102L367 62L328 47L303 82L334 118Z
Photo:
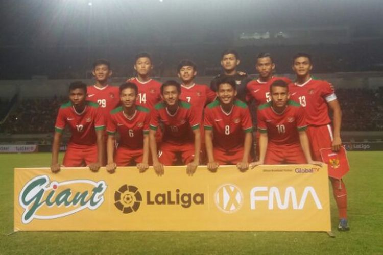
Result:
M87 166L97 162L97 145L68 144L62 164L65 167Z

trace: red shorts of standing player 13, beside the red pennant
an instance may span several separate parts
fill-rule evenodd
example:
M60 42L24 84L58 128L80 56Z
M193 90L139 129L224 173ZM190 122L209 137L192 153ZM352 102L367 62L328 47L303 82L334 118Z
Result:
M310 141L310 153L314 160L322 161L320 149L331 148L331 125L308 126L306 130Z

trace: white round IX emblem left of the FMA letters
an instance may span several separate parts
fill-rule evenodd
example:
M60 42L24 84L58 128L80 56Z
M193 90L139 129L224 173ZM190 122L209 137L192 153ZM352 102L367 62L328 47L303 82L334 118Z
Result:
M244 199L241 190L234 184L224 184L214 194L216 206L224 213L234 213L241 209Z

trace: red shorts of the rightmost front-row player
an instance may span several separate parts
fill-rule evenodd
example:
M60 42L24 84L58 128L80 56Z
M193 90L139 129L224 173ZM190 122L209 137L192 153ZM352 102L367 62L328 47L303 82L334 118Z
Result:
M300 144L275 145L268 144L265 164L307 164Z

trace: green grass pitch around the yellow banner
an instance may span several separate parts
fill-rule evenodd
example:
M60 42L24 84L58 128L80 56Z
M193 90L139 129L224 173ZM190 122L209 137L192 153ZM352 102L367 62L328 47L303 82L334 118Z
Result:
M351 231L18 232L13 230L13 168L48 166L49 154L0 155L0 254L383 254L383 152L349 152L345 177ZM313 219L315 220L315 219Z

